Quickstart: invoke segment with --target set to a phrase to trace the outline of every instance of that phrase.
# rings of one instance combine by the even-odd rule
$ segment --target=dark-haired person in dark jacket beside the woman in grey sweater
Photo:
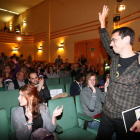
[[[83,89],[85,76],[83,73],[79,73],[75,76],[75,81],[70,86],[70,95],[79,95],[80,91]]]

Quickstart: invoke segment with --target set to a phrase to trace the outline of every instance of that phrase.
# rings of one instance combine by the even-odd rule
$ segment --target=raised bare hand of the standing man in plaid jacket
[[[101,23],[101,28],[105,28],[105,19],[108,15],[108,12],[109,12],[109,8],[106,5],[103,6],[102,13],[99,12],[99,21]]]

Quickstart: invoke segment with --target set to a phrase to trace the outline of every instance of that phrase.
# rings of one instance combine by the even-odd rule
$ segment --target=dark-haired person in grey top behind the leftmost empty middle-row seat
[[[50,65],[50,66],[48,67],[48,72],[46,72],[47,78],[59,78],[59,74],[58,74],[59,70],[60,70],[60,69],[57,70],[57,73],[54,72],[53,66]]]

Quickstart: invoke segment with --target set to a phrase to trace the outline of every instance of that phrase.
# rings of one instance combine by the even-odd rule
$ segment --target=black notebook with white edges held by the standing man
[[[126,133],[130,131],[130,128],[140,118],[140,106],[125,110],[122,112],[123,122]]]

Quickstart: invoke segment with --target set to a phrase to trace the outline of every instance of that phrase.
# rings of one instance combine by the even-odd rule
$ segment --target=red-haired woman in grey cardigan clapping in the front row
[[[47,129],[53,133],[56,129],[56,117],[61,115],[63,106],[53,111],[52,118],[48,107],[43,104],[37,89],[32,84],[26,84],[19,90],[19,107],[12,116],[13,127],[18,140],[29,140],[32,132],[39,128]],[[57,139],[53,133],[55,140]]]

